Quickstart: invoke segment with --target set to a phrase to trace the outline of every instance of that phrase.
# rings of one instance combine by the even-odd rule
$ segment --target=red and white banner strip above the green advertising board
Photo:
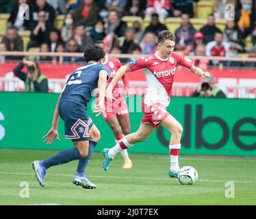
[[[24,83],[12,73],[18,63],[0,64],[0,91],[23,91]],[[82,64],[40,64],[42,74],[49,79],[49,92],[61,92],[68,76]],[[25,68],[24,68],[25,70]],[[216,83],[229,98],[256,99],[256,74],[253,69],[208,69],[216,77]],[[131,92],[145,92],[146,77],[143,70],[127,73]],[[172,96],[190,96],[199,86],[198,77],[184,68],[175,71]],[[120,86],[122,86],[120,81]]]

